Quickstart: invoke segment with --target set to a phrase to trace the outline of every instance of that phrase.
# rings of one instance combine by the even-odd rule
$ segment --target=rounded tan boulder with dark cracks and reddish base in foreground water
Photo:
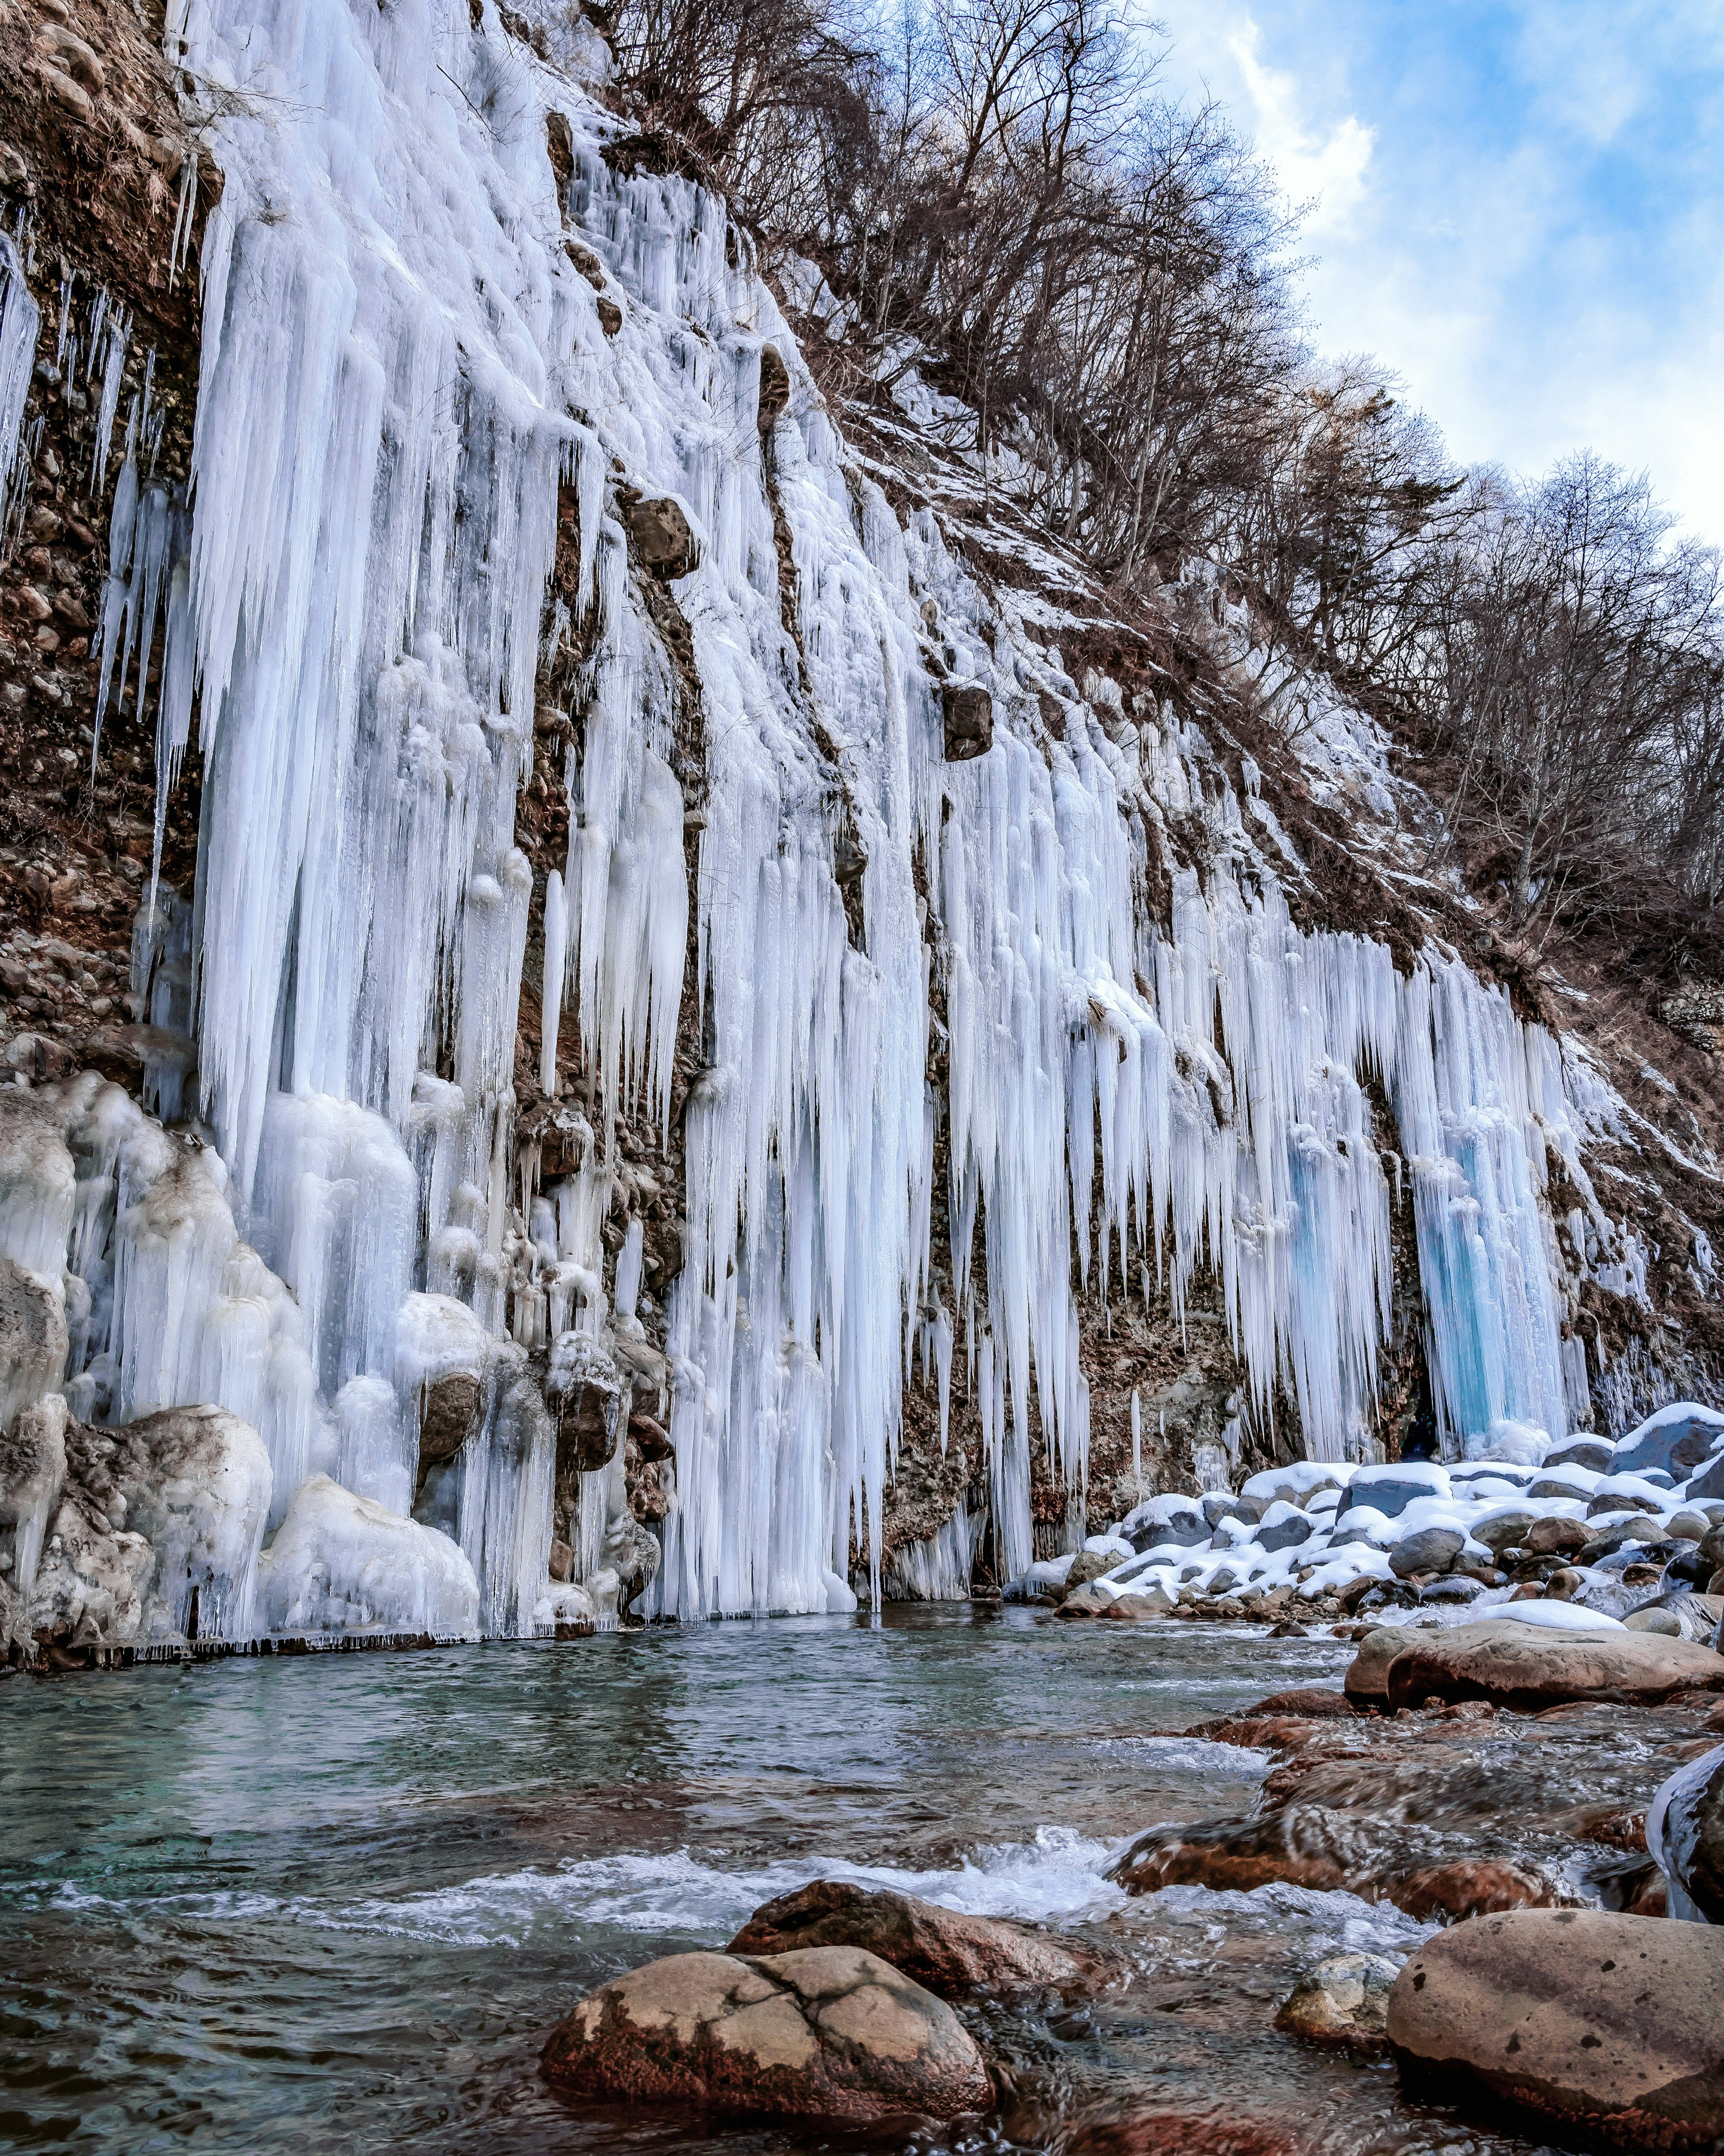
[[[631,1968],[556,2024],[541,2072],[612,2102],[843,2124],[950,2119],[991,2100],[953,2009],[862,1947],[672,1953]]]

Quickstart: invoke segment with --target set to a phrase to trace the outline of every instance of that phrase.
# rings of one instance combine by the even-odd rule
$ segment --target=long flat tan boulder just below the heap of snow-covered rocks
[[[1565,1699],[1657,1705],[1677,1692],[1724,1692],[1724,1658],[1711,1649],[1621,1626],[1560,1630],[1573,1615],[1567,1608],[1554,1611],[1554,1626],[1487,1617],[1446,1632],[1403,1632],[1399,1651],[1375,1647],[1381,1634],[1371,1634],[1347,1671],[1347,1697],[1368,1697],[1364,1686],[1381,1664],[1390,1708],[1420,1705],[1431,1697],[1489,1699],[1500,1708],[1537,1714]],[[1366,1660],[1366,1649],[1371,1660],[1355,1686],[1353,1671]]]

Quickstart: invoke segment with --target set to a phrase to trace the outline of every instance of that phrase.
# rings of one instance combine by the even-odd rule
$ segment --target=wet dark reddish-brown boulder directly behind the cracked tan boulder
[[[763,1902],[724,1951],[797,1953],[804,1947],[864,1947],[942,1999],[1073,1984],[1084,1975],[1075,1955],[1024,1925],[840,1880],[815,1880]]]

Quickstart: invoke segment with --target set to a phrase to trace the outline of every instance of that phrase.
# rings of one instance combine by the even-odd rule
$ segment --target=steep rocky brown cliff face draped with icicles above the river
[[[15,17],[15,1636],[183,1623],[58,1561],[155,1410],[267,1453],[244,1636],[957,1593],[1715,1391],[1681,1087],[1200,569],[1118,619],[961,407],[828,403],[590,30]]]

